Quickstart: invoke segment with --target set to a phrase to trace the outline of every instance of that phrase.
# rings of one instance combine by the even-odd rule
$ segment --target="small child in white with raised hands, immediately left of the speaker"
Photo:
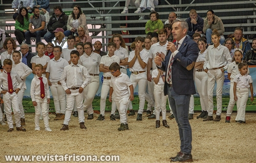
[[[166,121],[166,99],[164,96],[164,78],[165,73],[160,69],[152,71],[152,78],[154,79],[154,97],[155,97],[155,110],[156,110],[156,128],[160,127],[160,112],[162,111],[163,126],[169,128]]]

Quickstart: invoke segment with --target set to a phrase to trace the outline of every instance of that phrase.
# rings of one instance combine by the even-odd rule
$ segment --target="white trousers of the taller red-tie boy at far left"
[[[16,127],[20,127],[21,125],[20,125],[20,111],[18,108],[18,95],[15,92],[13,92],[12,94],[7,92],[6,94],[3,94],[3,100],[5,105],[6,119],[7,119],[9,128],[13,128],[12,110],[15,117]]]

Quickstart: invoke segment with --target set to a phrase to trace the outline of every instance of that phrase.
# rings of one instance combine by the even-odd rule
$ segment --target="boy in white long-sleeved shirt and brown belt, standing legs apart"
[[[87,129],[84,126],[83,113],[83,89],[90,84],[91,77],[85,67],[78,64],[79,52],[73,50],[70,52],[71,64],[64,67],[60,77],[60,83],[67,93],[67,107],[63,127],[60,130],[69,129],[71,113],[76,104],[78,120],[81,129]]]

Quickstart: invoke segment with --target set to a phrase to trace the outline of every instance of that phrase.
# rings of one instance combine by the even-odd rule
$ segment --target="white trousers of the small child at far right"
[[[246,102],[248,100],[248,94],[249,94],[249,89],[241,89],[237,88],[237,109],[238,109],[238,114],[236,117],[236,121],[245,121],[245,108],[246,108]]]

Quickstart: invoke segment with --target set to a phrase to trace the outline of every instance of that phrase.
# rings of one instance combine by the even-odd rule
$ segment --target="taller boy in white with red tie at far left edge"
[[[23,86],[23,80],[20,79],[15,71],[12,71],[12,61],[10,59],[4,60],[4,71],[0,74],[0,92],[3,94],[5,103],[5,111],[7,123],[9,125],[8,132],[13,131],[12,109],[15,116],[16,130],[26,131],[20,125],[20,112],[18,107],[18,91]]]

